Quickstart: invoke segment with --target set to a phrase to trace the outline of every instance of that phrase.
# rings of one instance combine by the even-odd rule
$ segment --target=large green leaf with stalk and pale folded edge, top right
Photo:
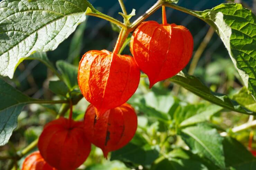
[[[238,73],[256,98],[256,17],[239,3],[220,4],[211,10],[192,11],[167,4],[198,17],[212,26],[225,44]]]

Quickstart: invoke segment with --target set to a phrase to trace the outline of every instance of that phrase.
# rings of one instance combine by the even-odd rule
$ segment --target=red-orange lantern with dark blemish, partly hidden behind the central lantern
[[[124,147],[134,137],[136,129],[137,115],[127,103],[106,111],[98,119],[92,105],[85,112],[85,133],[95,146],[102,149],[106,158],[109,152]]]

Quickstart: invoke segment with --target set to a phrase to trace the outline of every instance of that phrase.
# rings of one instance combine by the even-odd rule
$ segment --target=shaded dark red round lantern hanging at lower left
[[[45,161],[58,170],[75,170],[89,156],[83,122],[59,118],[49,122],[39,137],[38,149]]]

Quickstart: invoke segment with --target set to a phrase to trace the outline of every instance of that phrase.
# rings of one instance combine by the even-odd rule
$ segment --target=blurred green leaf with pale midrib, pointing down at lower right
[[[181,137],[194,154],[208,158],[221,169],[225,169],[223,138],[216,129],[206,124],[182,129]]]

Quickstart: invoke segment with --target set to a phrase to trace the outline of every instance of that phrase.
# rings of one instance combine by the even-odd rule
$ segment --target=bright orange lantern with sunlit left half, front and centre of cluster
[[[79,64],[78,84],[97,116],[124,104],[139,85],[140,70],[131,56],[92,50]]]

